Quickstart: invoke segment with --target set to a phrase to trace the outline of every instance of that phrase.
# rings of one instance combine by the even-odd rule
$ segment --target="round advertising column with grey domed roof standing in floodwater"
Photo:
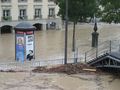
[[[15,26],[15,60],[24,62],[35,59],[35,27],[21,22]]]

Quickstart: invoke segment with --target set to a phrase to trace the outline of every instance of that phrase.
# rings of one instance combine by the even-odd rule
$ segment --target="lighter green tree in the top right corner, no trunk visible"
[[[102,12],[102,21],[108,23],[120,22],[120,0],[99,0]]]

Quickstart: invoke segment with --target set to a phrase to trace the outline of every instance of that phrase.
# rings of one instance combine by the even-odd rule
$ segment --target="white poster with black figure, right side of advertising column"
[[[31,61],[34,58],[34,35],[26,35],[26,59]]]

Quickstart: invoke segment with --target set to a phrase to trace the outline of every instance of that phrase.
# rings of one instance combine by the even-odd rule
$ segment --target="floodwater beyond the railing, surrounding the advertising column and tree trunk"
[[[91,33],[93,24],[76,25],[76,47],[79,53],[91,49]],[[72,25],[68,28],[68,57],[72,55]],[[63,30],[35,31],[35,60],[64,58],[64,28]],[[98,24],[99,43],[115,40],[120,37],[119,24]],[[15,60],[15,35],[0,35],[0,62]]]

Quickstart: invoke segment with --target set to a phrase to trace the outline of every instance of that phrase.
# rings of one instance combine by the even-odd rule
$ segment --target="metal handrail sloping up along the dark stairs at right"
[[[93,48],[87,52],[85,52],[85,62],[89,62],[101,55],[106,53],[116,52],[120,50],[120,40],[110,40],[105,41],[100,44],[96,48]]]

